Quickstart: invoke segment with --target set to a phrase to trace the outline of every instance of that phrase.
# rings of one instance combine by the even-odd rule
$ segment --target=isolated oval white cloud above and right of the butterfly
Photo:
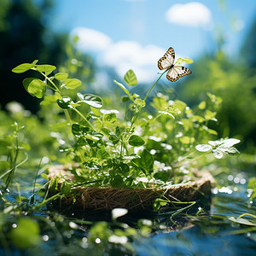
[[[206,5],[198,2],[177,3],[166,11],[166,20],[183,26],[212,28],[212,13]]]

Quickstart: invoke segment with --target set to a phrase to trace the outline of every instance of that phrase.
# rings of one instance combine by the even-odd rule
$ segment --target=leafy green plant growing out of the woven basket
[[[56,67],[37,63],[21,64],[12,71],[34,70],[42,75],[43,79],[25,79],[23,85],[32,96],[44,97],[44,105],[56,102],[64,111],[67,122],[61,123],[61,127],[69,128],[67,133],[72,132],[73,141],[67,139],[66,144],[61,145],[61,151],[66,152],[71,161],[79,163],[73,173],[81,183],[125,188],[182,182],[187,173],[184,168],[199,157],[195,151],[196,143],[217,135],[207,127],[209,120],[216,121],[216,112],[207,108],[207,102],[201,102],[192,110],[184,102],[173,102],[168,96],[158,94],[146,104],[150,91],[172,67],[160,74],[144,98],[114,80],[125,92],[122,102],[131,116],[122,119],[124,110],[103,108],[100,96],[81,93],[73,99],[66,96],[69,90],[78,88],[81,81],[69,79],[67,73],[51,75]],[[132,70],[125,73],[124,80],[128,86],[137,85]],[[47,88],[53,94],[45,96]],[[209,106],[218,104],[214,96],[208,96]],[[232,153],[238,151],[234,149]],[[185,179],[191,178],[191,172],[189,174],[190,177]]]

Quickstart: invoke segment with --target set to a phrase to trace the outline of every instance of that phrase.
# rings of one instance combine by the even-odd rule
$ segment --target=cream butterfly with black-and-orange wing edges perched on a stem
[[[177,79],[192,73],[188,67],[174,66],[174,60],[175,52],[174,49],[170,47],[166,51],[166,54],[158,61],[158,67],[160,70],[168,69],[168,72],[166,74],[166,78],[168,80],[175,82],[177,81]]]

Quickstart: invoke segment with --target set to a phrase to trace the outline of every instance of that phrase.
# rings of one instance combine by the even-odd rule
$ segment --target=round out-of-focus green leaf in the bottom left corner
[[[41,241],[39,225],[32,218],[20,218],[17,227],[9,232],[9,237],[20,249],[34,247]]]

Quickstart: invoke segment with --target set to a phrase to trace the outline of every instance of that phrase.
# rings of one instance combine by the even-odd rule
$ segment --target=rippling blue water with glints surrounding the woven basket
[[[239,173],[238,173],[239,174]],[[236,174],[234,177],[224,177],[228,183],[223,187],[212,189],[212,204],[203,216],[192,218],[183,230],[154,230],[149,236],[140,233],[130,239],[128,247],[91,240],[89,226],[86,221],[78,222],[77,218],[65,217],[58,212],[51,212],[45,207],[35,212],[35,218],[40,224],[42,242],[36,247],[21,252],[11,247],[12,255],[255,255],[256,229],[252,226],[232,222],[230,217],[239,217],[243,213],[256,213],[255,204],[247,196],[247,174]],[[238,182],[237,175],[240,177]],[[21,181],[22,180],[22,181]],[[43,181],[41,181],[43,182]],[[39,180],[40,183],[40,180]],[[21,196],[29,198],[32,195],[31,181],[20,179]],[[10,193],[9,201],[15,201],[18,194]],[[40,201],[37,196],[36,201]],[[49,215],[49,218],[45,218]],[[171,216],[171,215],[170,215]],[[164,214],[162,225],[170,225],[170,216]],[[154,216],[155,218],[155,216]],[[128,219],[129,221],[129,216]],[[15,222],[15,217],[11,220]],[[136,224],[133,218],[130,223]],[[129,224],[130,224],[129,223]],[[75,225],[77,224],[77,226]],[[114,230],[116,227],[111,226]],[[253,227],[255,228],[255,227]],[[0,254],[3,254],[3,248]],[[4,255],[4,254],[3,254]]]

